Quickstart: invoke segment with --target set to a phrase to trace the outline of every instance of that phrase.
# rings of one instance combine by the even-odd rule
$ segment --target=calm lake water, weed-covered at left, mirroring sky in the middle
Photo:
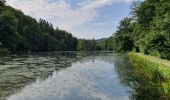
[[[109,52],[52,52],[0,58],[0,99],[130,100],[130,65]]]

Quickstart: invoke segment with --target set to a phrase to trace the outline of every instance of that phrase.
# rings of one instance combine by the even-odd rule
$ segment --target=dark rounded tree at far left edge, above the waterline
[[[0,41],[5,48],[12,51],[16,50],[20,40],[17,24],[18,20],[11,12],[4,11],[0,14]]]

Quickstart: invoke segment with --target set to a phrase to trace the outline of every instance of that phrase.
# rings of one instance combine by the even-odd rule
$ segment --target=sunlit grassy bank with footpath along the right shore
[[[134,89],[136,93],[147,93],[146,100],[152,100],[153,96],[157,100],[169,100],[170,61],[132,52],[128,53],[128,58],[133,65],[131,74],[138,84]]]

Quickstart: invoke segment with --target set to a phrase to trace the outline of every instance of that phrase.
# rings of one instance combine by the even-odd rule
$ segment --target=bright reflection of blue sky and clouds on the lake
[[[37,80],[8,100],[128,100],[128,89],[120,84],[114,64],[86,59]]]

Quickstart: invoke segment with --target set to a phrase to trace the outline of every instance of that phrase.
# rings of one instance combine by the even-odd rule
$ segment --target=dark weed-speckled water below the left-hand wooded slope
[[[81,57],[75,52],[10,55],[0,58],[0,100],[18,92],[36,79],[45,79],[54,70],[71,66]]]

